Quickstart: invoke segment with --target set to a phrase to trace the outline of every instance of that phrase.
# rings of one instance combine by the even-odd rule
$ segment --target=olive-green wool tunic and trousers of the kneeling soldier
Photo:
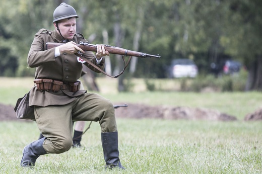
[[[76,34],[73,40],[87,42],[82,34]],[[53,79],[67,84],[75,82],[81,77],[82,66],[88,66],[95,72],[95,68],[79,61],[75,54],[61,54],[55,57],[55,48],[46,50],[47,42],[62,42],[62,37],[54,31],[41,29],[34,37],[28,54],[28,65],[35,67],[36,79]],[[93,52],[85,51],[88,58],[98,67],[104,67],[104,59],[97,64]],[[37,126],[46,139],[43,148],[47,153],[62,153],[73,145],[73,121],[96,121],[101,126],[101,132],[116,132],[116,121],[113,104],[97,95],[85,90],[76,93],[60,89],[57,92],[40,91],[37,86],[30,90],[29,106],[34,106]]]

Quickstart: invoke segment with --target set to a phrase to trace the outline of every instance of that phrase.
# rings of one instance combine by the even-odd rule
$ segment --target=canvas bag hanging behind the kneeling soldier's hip
[[[29,107],[29,93],[17,100],[14,110],[17,118],[35,121],[34,107]]]

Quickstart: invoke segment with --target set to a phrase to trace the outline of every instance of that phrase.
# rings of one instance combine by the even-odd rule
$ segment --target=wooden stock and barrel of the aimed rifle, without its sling
[[[60,46],[64,43],[52,43],[48,42],[46,43],[46,49],[54,48],[57,46]],[[87,42],[81,42],[80,44],[77,44],[79,48],[81,48],[84,51],[93,51],[96,52],[97,46],[93,44],[89,44]],[[137,51],[132,51],[132,50],[127,50],[124,48],[119,48],[111,45],[104,45],[105,50],[107,50],[110,54],[119,54],[119,55],[125,55],[125,56],[134,56],[134,57],[156,57],[160,58],[161,56],[159,55],[151,55],[151,54],[146,54],[142,52],[137,52]]]

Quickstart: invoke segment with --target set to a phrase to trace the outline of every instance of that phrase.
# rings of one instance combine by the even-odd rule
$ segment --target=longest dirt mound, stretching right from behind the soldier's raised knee
[[[233,121],[236,117],[219,111],[204,108],[166,107],[128,104],[128,107],[115,110],[116,116],[121,118],[160,118],[160,119],[186,119],[186,120],[219,120]]]

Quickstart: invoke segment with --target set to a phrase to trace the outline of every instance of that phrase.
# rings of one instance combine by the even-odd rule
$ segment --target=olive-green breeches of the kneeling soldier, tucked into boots
[[[37,126],[44,137],[47,153],[62,153],[72,145],[73,121],[99,122],[101,132],[116,132],[113,104],[97,95],[84,94],[67,105],[35,106]]]

